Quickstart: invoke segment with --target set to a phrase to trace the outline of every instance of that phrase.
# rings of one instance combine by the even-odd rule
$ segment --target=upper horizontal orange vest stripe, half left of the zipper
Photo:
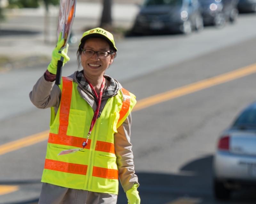
[[[56,135],[53,133],[49,134],[49,143],[53,144],[62,144],[67,146],[74,146],[74,147],[82,147],[84,142],[84,138],[82,137],[75,137],[75,136],[68,136],[68,135]],[[90,149],[91,140],[88,140],[88,144],[85,149]]]

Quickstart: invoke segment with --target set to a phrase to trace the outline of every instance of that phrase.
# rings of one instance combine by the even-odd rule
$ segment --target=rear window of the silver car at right
[[[235,120],[233,126],[256,126],[256,109],[247,109]]]

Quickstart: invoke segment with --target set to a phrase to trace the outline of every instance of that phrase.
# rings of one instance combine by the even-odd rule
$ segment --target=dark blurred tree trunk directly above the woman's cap
[[[102,28],[110,28],[112,26],[112,18],[111,18],[111,6],[112,0],[102,0],[103,10],[100,19],[100,27]]]

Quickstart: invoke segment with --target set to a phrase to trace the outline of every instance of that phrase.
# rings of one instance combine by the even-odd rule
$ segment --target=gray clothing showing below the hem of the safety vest
[[[43,183],[38,204],[116,204],[117,195]]]

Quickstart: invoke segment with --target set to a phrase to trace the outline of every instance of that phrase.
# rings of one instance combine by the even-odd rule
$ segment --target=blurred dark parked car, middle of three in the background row
[[[238,0],[199,0],[204,25],[223,27],[227,21],[234,22],[238,16]]]

